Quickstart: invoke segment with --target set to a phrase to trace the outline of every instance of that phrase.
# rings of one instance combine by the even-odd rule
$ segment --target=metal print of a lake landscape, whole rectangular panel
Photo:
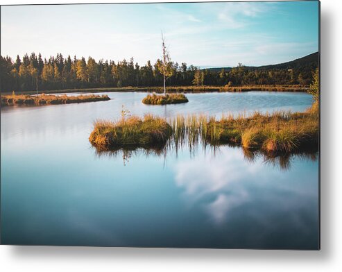
[[[319,5],[1,6],[1,244],[318,250]]]

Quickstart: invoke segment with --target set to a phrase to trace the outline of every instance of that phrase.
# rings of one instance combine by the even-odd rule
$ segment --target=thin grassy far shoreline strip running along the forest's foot
[[[168,93],[200,93],[200,92],[249,92],[249,91],[268,91],[268,92],[307,92],[309,86],[301,85],[241,85],[241,86],[176,86],[167,87]],[[17,92],[18,94],[35,94],[35,90],[28,92]],[[45,94],[64,94],[69,92],[155,92],[162,94],[163,87],[101,87],[65,90],[44,90]],[[3,92],[11,94],[11,92]]]

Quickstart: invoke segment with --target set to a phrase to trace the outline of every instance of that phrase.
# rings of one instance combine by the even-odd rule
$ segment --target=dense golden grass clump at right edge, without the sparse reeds
[[[265,153],[292,153],[318,148],[318,111],[274,112],[212,120],[206,140],[212,144],[237,144]],[[219,133],[218,133],[219,131]]]

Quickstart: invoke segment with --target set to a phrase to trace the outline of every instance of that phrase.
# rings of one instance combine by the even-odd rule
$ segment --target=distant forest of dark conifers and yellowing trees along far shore
[[[31,53],[13,61],[0,56],[0,90],[32,91],[63,90],[92,87],[153,87],[163,85],[163,76],[150,61],[139,66],[129,61],[99,60],[94,58],[64,58],[61,53],[42,59]],[[167,86],[189,85],[309,85],[312,71],[318,67],[318,52],[280,65],[234,68],[198,69],[194,65],[171,62],[172,76]]]

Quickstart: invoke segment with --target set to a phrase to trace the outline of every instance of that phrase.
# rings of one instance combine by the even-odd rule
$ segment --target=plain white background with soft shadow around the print
[[[120,1],[0,0],[1,5],[94,2]],[[1,271],[342,271],[341,3],[321,1],[320,251],[0,246]]]

